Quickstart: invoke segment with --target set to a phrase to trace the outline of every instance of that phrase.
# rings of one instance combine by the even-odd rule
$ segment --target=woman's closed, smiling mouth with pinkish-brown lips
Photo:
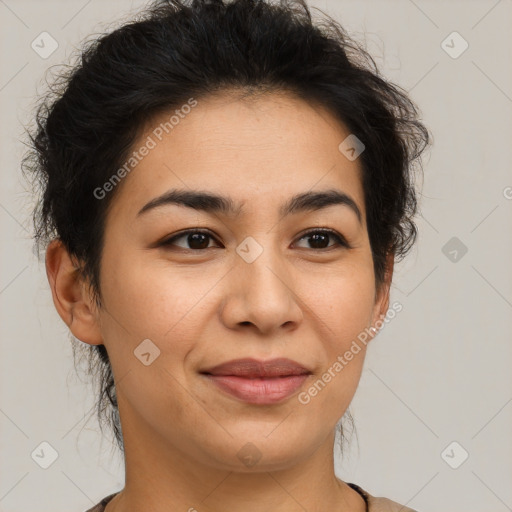
[[[290,398],[312,375],[292,361],[237,359],[200,372],[217,389],[251,404],[275,404]]]

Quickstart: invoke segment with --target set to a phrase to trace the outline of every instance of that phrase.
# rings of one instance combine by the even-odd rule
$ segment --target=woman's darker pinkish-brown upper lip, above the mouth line
[[[209,375],[233,375],[236,377],[286,377],[289,375],[307,375],[311,371],[301,364],[287,358],[259,361],[257,359],[233,359],[200,373]]]

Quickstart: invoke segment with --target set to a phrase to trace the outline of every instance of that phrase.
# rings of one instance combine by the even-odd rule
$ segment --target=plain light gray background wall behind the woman
[[[32,253],[19,162],[45,70],[142,5],[0,0],[2,512],[83,511],[124,483]],[[512,510],[512,0],[310,5],[366,42],[434,134],[419,241],[395,269],[391,301],[403,311],[370,347],[351,405],[358,437],[337,474],[420,512]],[[43,31],[59,45],[46,59],[31,48]],[[453,31],[469,43],[458,58],[442,46]],[[31,458],[43,441],[58,453],[48,469]]]

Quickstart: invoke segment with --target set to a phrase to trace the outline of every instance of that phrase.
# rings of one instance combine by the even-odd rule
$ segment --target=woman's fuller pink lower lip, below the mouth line
[[[206,375],[216,386],[251,404],[275,404],[292,396],[309,375],[254,378],[233,375]]]

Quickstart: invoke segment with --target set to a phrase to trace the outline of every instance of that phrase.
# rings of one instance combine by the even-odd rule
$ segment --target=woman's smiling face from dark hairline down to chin
[[[175,112],[158,116],[134,144],[140,161],[106,221],[104,308],[94,315],[125,444],[221,469],[284,468],[333,435],[364,344],[344,356],[388,306],[374,285],[359,159],[340,151],[349,132],[326,110],[291,96],[224,94],[184,112],[168,133],[161,123]],[[141,212],[173,190],[232,208],[161,202]],[[351,198],[361,219],[346,201],[311,199],[328,191]],[[309,374],[262,385],[203,373],[246,358],[287,358]]]

